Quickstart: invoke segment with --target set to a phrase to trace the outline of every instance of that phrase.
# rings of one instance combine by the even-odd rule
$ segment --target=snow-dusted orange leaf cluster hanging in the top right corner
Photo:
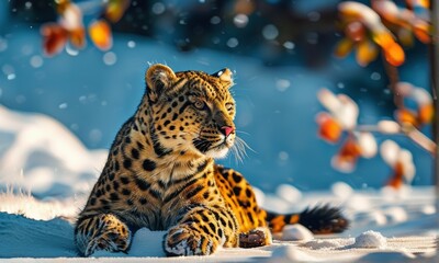
[[[428,8],[428,0],[406,0],[405,8],[391,0],[372,0],[371,7],[354,1],[341,2],[338,10],[345,38],[338,43],[336,56],[345,57],[356,49],[357,62],[365,67],[381,52],[390,65],[403,65],[402,45],[412,46],[414,36],[424,44],[431,42]]]

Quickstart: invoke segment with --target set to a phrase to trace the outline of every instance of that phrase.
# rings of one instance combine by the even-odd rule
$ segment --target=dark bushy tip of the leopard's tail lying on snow
[[[299,222],[313,233],[338,233],[349,228],[341,209],[329,205],[306,208],[300,214]]]

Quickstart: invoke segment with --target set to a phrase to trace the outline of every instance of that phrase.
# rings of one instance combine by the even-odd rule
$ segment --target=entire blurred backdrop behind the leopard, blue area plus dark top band
[[[344,173],[331,165],[341,142],[328,144],[318,136],[316,115],[325,108],[317,92],[323,88],[349,95],[358,104],[362,125],[393,119],[396,110],[380,55],[368,66],[360,66],[354,54],[345,58],[334,55],[345,37],[340,2],[128,1],[123,16],[111,24],[111,48],[101,50],[88,39],[82,49],[67,44],[59,54],[47,56],[42,25],[58,20],[57,4],[1,1],[0,105],[8,111],[45,114],[89,150],[109,149],[139,103],[148,64],[167,64],[175,71],[215,72],[228,67],[235,72],[238,135],[251,150],[241,162],[229,156],[221,163],[240,171],[267,192],[281,184],[301,191],[326,190],[339,181],[353,188],[379,188],[394,173],[380,155],[360,158],[352,172]],[[85,24],[101,15],[102,1],[75,3],[83,12]],[[397,68],[399,80],[429,90],[428,46],[415,39],[404,50],[405,62]],[[0,124],[8,126],[4,119],[0,116]],[[431,136],[430,125],[420,129]],[[0,133],[2,158],[15,138],[4,129]],[[432,183],[429,152],[403,135],[374,136],[379,144],[393,139],[412,152],[416,167],[413,185]],[[2,163],[0,179],[26,178],[35,168],[8,165]],[[97,164],[93,180],[100,169]],[[54,173],[61,176],[58,170]],[[48,192],[42,188],[40,193]]]

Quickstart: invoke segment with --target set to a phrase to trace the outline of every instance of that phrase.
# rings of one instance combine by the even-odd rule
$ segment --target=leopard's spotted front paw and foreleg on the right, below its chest
[[[164,249],[168,255],[209,255],[218,247],[237,247],[237,228],[228,208],[195,206],[168,230]]]

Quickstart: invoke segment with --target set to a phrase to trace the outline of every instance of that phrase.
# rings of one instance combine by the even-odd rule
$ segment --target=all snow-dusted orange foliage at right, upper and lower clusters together
[[[406,61],[403,46],[412,46],[414,37],[420,43],[431,42],[428,0],[406,0],[406,7],[398,7],[390,0],[372,0],[371,7],[354,1],[338,5],[340,25],[345,37],[337,44],[335,55],[346,57],[356,49],[357,62],[365,67],[380,52],[390,67],[402,66]],[[431,95],[423,88],[408,82],[395,81],[391,91],[395,96],[395,121],[383,119],[378,124],[361,126],[357,124],[358,105],[345,94],[333,94],[323,89],[317,98],[327,112],[317,114],[318,136],[324,140],[341,142],[331,164],[341,172],[352,172],[359,158],[371,158],[378,146],[370,132],[385,135],[405,134],[427,150],[435,152],[436,145],[419,130],[432,122],[434,104]],[[416,136],[415,136],[415,135]],[[427,142],[420,141],[429,140]],[[416,168],[412,153],[402,149],[393,140],[380,146],[380,153],[392,173],[385,185],[399,188],[410,183]]]

